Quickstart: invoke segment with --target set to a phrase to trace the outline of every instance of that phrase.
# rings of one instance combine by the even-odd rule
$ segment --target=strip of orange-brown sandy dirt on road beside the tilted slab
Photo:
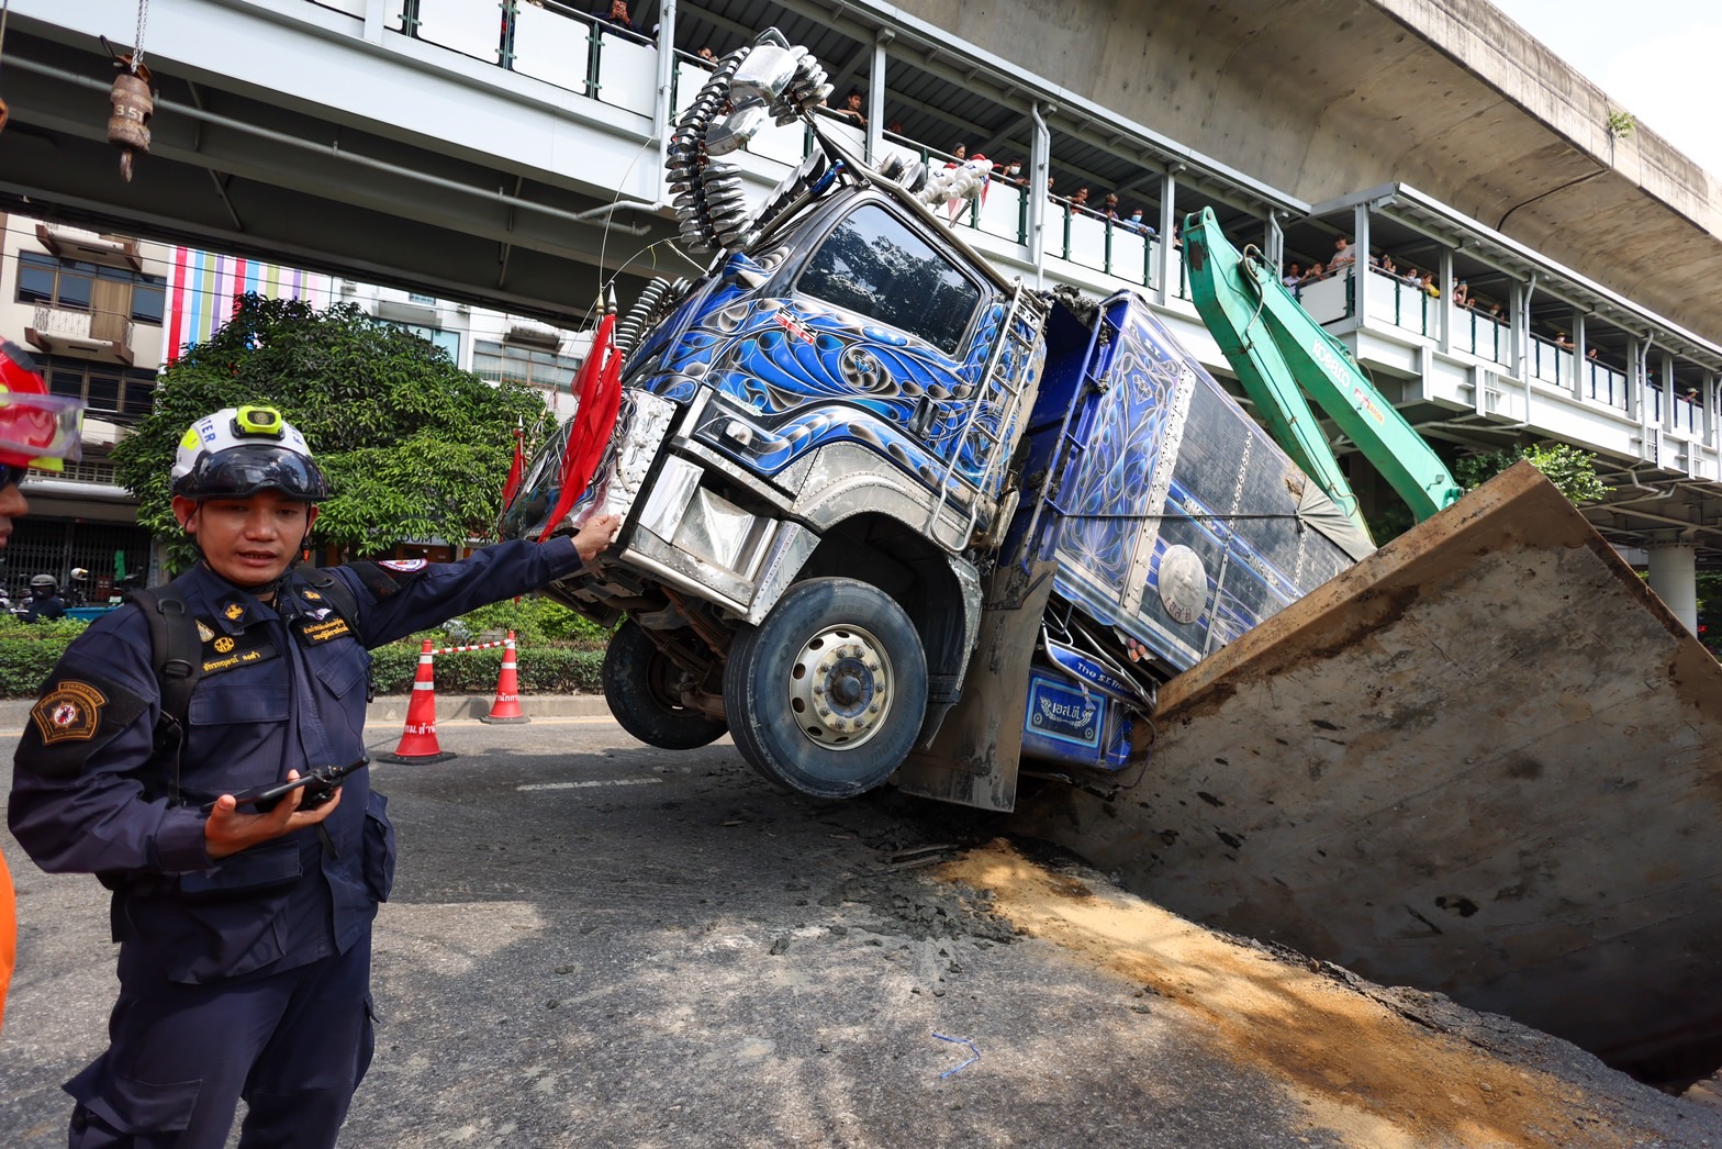
[[[1205,1023],[1226,1058],[1283,1082],[1312,1128],[1348,1144],[1719,1144],[1712,1115],[1567,1042],[1202,929],[1009,842],[971,849],[937,877],[978,891],[988,916],[1019,934],[1116,972],[1121,994]]]

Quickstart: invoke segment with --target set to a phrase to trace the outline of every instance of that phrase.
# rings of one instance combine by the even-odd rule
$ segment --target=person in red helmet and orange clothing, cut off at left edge
[[[48,386],[36,374],[36,360],[0,339],[0,550],[12,537],[12,520],[29,512],[24,493],[17,489],[24,470],[59,470],[64,460],[79,456],[83,408],[83,400],[48,394]],[[0,856],[0,1025],[5,1023],[15,956],[17,897],[12,873]]]

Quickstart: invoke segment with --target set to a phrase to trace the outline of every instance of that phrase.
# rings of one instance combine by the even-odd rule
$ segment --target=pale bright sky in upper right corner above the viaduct
[[[1493,0],[1641,124],[1722,177],[1722,3]]]

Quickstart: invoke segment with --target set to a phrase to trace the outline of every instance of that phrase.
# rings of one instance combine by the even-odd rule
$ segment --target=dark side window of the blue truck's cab
[[[980,303],[971,279],[876,203],[856,208],[832,229],[797,286],[947,355],[963,345]]]

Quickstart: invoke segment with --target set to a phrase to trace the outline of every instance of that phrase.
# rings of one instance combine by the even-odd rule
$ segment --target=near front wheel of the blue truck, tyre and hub
[[[852,798],[889,779],[921,730],[921,636],[871,584],[797,582],[730,646],[723,708],[735,748],[768,780]]]

